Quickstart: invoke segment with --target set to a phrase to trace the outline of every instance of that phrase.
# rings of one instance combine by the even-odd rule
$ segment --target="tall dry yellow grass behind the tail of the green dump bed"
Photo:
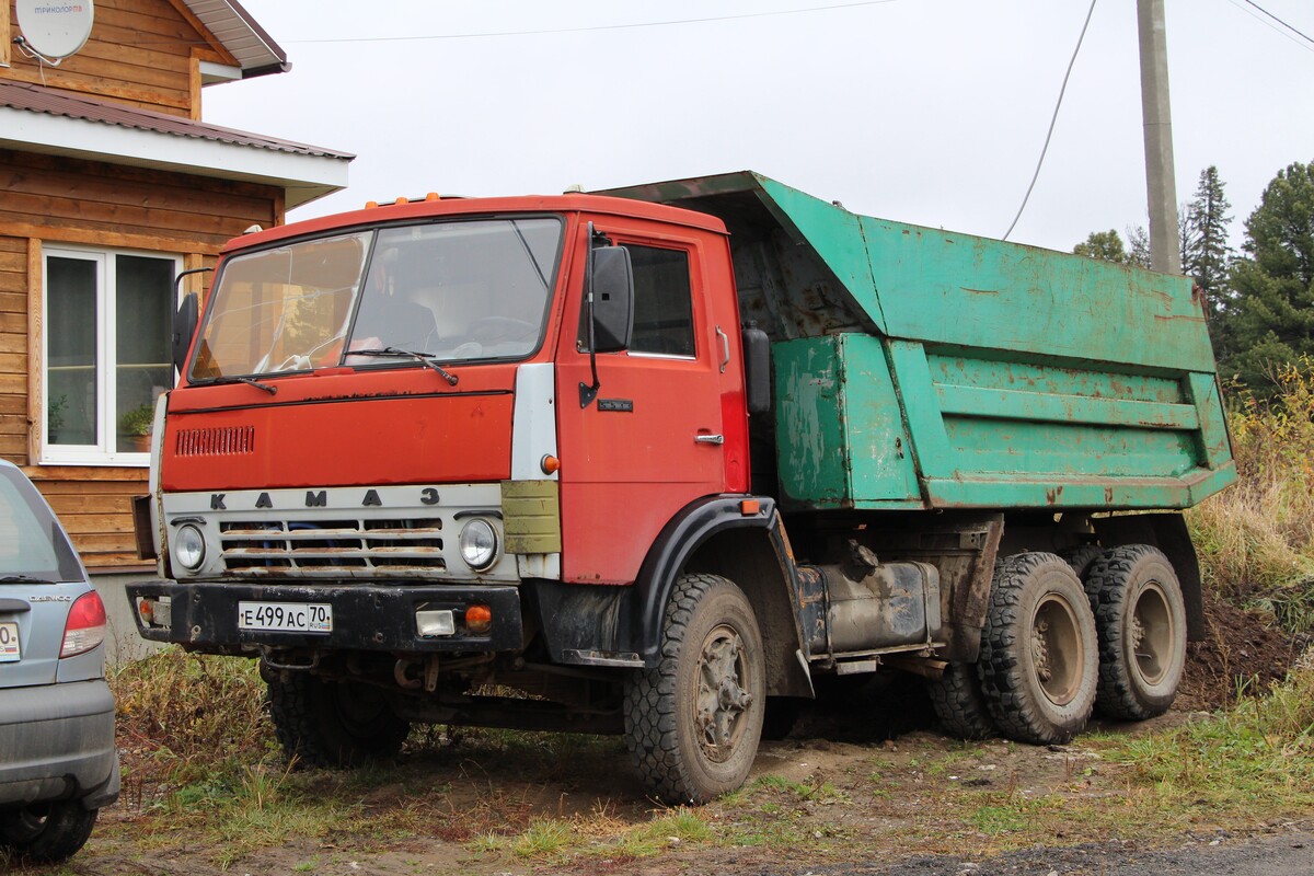
[[[1272,401],[1239,395],[1229,426],[1238,483],[1187,520],[1205,582],[1314,632],[1314,360],[1280,366]]]

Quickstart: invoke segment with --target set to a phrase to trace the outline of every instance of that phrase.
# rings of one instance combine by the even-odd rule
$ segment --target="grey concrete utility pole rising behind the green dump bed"
[[[1150,263],[1155,271],[1181,273],[1163,0],[1137,0],[1137,24],[1141,30],[1141,114],[1146,129]]]

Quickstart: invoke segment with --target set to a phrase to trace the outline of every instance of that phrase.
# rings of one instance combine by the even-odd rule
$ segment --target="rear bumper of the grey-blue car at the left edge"
[[[0,688],[0,806],[118,797],[114,696],[104,679]]]

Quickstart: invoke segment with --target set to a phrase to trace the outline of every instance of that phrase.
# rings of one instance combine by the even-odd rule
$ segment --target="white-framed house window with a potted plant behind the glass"
[[[176,256],[45,248],[42,462],[147,462],[180,271]]]

